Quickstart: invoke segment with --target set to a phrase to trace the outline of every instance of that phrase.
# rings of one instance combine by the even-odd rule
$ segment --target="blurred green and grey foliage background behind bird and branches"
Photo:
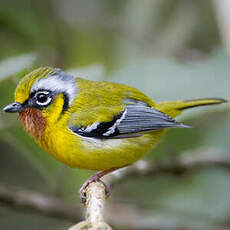
[[[13,101],[25,73],[43,65],[129,84],[156,101],[230,99],[229,15],[228,0],[0,0],[0,106]],[[188,152],[230,157],[229,105],[193,109],[179,120],[195,128],[170,130],[147,159],[173,161]],[[0,185],[80,206],[78,189],[92,172],[45,153],[17,115],[0,113],[0,149]],[[230,171],[212,167],[180,177],[129,178],[115,185],[107,204],[138,210],[143,227],[128,229],[230,229],[229,191]],[[0,202],[0,229],[72,224]]]

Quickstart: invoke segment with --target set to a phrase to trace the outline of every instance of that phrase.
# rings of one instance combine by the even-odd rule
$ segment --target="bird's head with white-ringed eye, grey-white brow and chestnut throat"
[[[60,69],[41,67],[26,75],[17,85],[15,102],[3,111],[19,113],[19,118],[32,136],[40,136],[47,124],[53,124],[76,97],[74,76]]]

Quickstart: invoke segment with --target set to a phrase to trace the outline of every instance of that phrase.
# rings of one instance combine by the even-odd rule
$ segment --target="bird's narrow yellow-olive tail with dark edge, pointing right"
[[[204,105],[216,105],[225,102],[227,102],[227,100],[221,98],[203,98],[185,101],[166,101],[158,103],[156,105],[156,108],[161,112],[166,113],[170,117],[174,118],[181,114],[181,112],[185,109],[190,109],[193,107]]]

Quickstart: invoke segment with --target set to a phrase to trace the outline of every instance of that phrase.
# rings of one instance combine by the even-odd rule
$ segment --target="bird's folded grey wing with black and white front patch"
[[[166,114],[142,102],[126,104],[124,109],[113,115],[109,121],[95,121],[87,126],[75,125],[73,122],[69,125],[75,134],[99,139],[136,137],[144,132],[171,127],[185,128],[188,126],[176,122]]]

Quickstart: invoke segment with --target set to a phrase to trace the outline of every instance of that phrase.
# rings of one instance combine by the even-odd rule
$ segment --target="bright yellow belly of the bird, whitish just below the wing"
[[[70,130],[47,129],[39,144],[57,160],[82,169],[105,170],[131,164],[151,150],[163,134],[153,131],[135,138],[94,139]]]

